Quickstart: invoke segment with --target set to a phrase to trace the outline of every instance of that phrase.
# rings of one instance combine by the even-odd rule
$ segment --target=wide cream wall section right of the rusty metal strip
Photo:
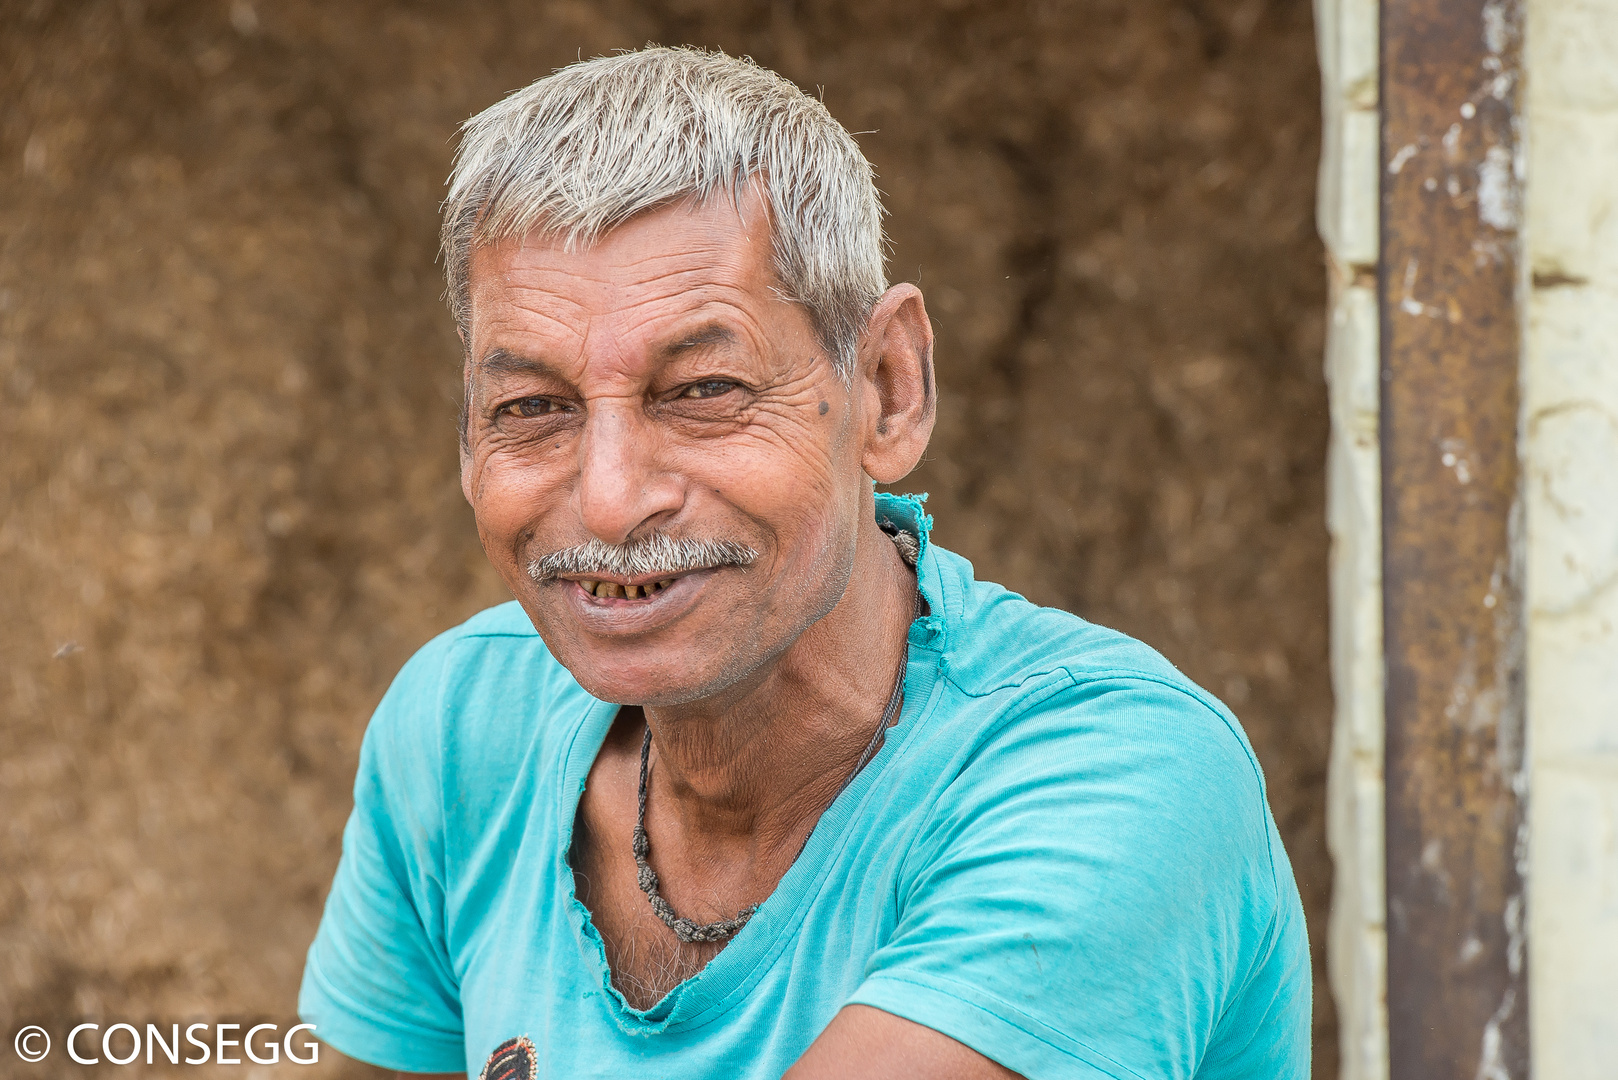
[[[1618,3],[1527,5],[1535,1080],[1618,1062]]]

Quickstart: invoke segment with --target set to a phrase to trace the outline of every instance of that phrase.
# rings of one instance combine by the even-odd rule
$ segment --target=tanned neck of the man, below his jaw
[[[654,801],[683,845],[796,853],[882,722],[914,591],[867,518],[843,599],[781,656],[715,698],[646,709]]]

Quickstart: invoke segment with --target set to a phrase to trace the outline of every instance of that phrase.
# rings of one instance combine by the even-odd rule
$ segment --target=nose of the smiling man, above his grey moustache
[[[660,442],[637,397],[589,402],[576,507],[592,536],[621,544],[641,526],[680,512],[684,486],[659,465]]]

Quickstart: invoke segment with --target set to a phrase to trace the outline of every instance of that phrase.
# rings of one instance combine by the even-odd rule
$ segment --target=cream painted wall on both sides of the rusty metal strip
[[[1345,1080],[1387,1075],[1377,492],[1377,5],[1319,0],[1332,657],[1332,986]],[[1618,1061],[1618,5],[1529,0],[1523,356],[1537,1080]]]

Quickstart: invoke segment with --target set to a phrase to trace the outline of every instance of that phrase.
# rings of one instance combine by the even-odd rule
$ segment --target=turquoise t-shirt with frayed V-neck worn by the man
[[[644,1012],[612,989],[568,848],[616,706],[505,604],[371,722],[304,970],[317,1035],[414,1072],[526,1036],[537,1077],[773,1080],[861,1002],[1029,1080],[1307,1077],[1302,907],[1236,719],[976,581],[917,502],[877,512],[924,541],[901,717],[699,975]]]

